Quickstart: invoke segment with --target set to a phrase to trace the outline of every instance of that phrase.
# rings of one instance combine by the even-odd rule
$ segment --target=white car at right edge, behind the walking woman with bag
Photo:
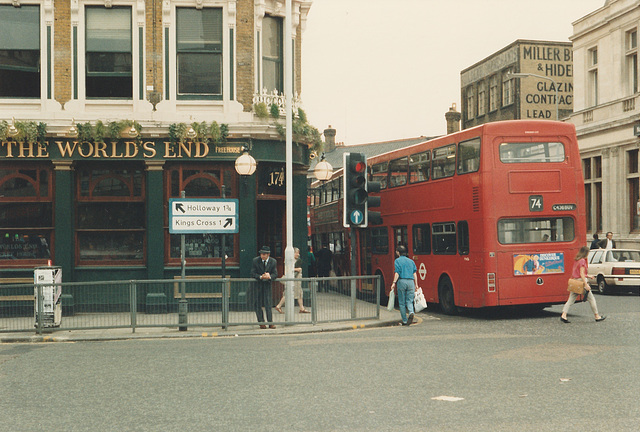
[[[602,294],[640,287],[640,250],[593,249],[589,251],[589,284]]]

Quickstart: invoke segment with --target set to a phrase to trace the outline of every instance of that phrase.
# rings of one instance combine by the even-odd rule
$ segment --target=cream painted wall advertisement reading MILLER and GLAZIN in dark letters
[[[520,72],[537,75],[520,78],[520,118],[556,120],[573,111],[571,46],[523,44]]]

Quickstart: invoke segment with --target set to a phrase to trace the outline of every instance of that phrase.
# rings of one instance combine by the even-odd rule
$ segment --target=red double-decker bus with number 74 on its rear
[[[379,274],[384,303],[395,248],[407,246],[427,301],[545,307],[567,299],[586,241],[575,128],[503,121],[368,159],[382,184],[383,225],[359,235],[360,274]]]

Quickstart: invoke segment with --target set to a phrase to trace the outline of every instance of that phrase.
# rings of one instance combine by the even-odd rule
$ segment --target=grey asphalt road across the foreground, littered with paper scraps
[[[410,327],[0,345],[0,431],[640,431],[640,297]]]

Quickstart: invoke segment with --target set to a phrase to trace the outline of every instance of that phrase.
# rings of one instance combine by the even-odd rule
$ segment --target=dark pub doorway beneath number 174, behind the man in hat
[[[280,200],[258,200],[258,248],[269,246],[271,256],[278,261],[278,277],[284,275],[284,249],[286,247],[285,203],[285,201]]]

